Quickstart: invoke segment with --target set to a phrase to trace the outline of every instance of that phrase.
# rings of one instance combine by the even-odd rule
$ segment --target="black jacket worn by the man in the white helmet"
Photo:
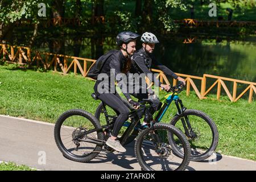
[[[177,79],[177,75],[171,71],[171,69],[167,68],[166,66],[162,65],[158,61],[156,61],[155,57],[150,53],[144,51],[143,48],[139,49],[139,51],[135,52],[134,55],[131,57],[132,67],[130,69],[131,73],[144,73],[146,76],[152,72],[150,71],[151,68],[160,69],[166,75],[171,76]],[[148,77],[152,82],[157,79],[155,76]],[[159,81],[160,86],[162,82]]]

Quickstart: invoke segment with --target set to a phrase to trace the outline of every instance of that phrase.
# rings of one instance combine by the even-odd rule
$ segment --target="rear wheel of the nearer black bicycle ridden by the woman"
[[[104,140],[102,130],[79,137],[85,131],[101,129],[100,122],[90,113],[72,109],[61,114],[55,124],[54,137],[65,158],[76,162],[89,162],[101,151],[102,145],[90,143]]]

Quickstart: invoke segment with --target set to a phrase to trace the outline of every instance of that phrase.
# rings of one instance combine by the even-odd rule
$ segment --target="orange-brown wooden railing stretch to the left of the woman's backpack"
[[[81,75],[86,77],[90,67],[92,67],[93,63],[96,61],[75,56],[31,51],[28,47],[8,46],[6,44],[0,45],[3,61],[18,63],[20,65],[26,64],[28,67],[30,67],[32,63],[35,63],[38,68],[43,67],[47,70],[53,67],[54,71],[60,68],[64,74],[67,74],[73,68],[75,74],[80,71]]]

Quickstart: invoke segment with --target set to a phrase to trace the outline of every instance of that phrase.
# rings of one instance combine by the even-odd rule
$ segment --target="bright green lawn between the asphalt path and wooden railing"
[[[94,101],[94,81],[81,76],[36,72],[16,65],[0,65],[0,114],[54,123],[68,109],[84,109],[94,114],[100,101]],[[160,92],[160,98],[164,96]],[[209,96],[216,97],[216,96]],[[256,160],[256,102],[236,103],[225,96],[221,101],[199,100],[194,92],[180,98],[188,109],[207,113],[218,127],[220,140],[217,152]],[[171,105],[162,121],[170,122],[176,113]]]

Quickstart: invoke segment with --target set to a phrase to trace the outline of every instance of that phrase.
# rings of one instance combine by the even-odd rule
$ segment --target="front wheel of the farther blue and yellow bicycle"
[[[190,126],[188,126],[188,123]],[[183,131],[187,136],[188,142],[191,144],[192,161],[207,159],[216,150],[218,144],[217,126],[203,111],[194,109],[185,110],[182,116],[176,115],[170,124]],[[179,139],[170,134],[170,143],[175,153],[182,157],[183,151],[179,146]]]

